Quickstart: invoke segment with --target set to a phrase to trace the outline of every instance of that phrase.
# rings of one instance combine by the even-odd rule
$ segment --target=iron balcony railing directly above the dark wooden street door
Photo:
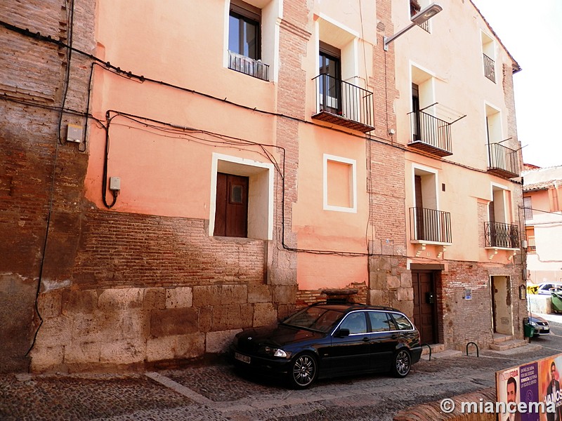
[[[410,234],[415,241],[450,244],[451,214],[434,209],[410,208]]]

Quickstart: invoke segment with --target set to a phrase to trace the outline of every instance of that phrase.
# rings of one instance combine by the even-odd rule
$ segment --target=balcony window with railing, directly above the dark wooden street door
[[[410,238],[417,243],[452,243],[451,215],[438,210],[437,173],[414,168],[414,204],[410,208]]]

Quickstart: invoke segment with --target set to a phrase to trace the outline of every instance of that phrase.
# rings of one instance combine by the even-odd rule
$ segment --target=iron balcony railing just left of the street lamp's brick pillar
[[[319,74],[313,80],[316,83],[316,114],[313,119],[363,133],[374,130],[372,92],[329,74]]]

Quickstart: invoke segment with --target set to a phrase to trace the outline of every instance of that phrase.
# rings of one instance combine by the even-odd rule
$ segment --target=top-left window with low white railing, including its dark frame
[[[230,1],[228,68],[268,80],[268,66],[261,62],[261,9],[240,0]]]

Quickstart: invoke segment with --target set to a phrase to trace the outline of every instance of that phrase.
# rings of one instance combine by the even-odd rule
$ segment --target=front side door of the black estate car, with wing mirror
[[[348,329],[349,335],[338,335],[341,329]],[[347,314],[332,333],[332,345],[325,359],[329,371],[344,374],[370,370],[370,340],[365,312]]]

